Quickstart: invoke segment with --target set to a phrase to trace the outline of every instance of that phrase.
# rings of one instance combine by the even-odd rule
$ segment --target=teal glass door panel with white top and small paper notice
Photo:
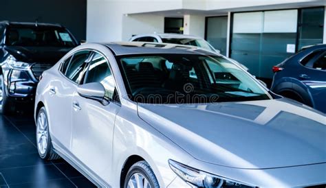
[[[272,78],[272,67],[295,52],[297,16],[297,10],[233,14],[230,57],[258,78]]]

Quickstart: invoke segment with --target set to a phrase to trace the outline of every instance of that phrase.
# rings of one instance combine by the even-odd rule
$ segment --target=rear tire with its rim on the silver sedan
[[[60,156],[54,151],[52,145],[45,107],[42,107],[39,110],[36,119],[36,145],[41,158],[49,161],[60,158]]]

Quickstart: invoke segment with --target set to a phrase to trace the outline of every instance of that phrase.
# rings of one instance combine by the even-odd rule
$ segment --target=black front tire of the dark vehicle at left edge
[[[15,103],[7,96],[5,84],[3,82],[3,75],[1,75],[1,110],[3,115],[12,115],[16,111]]]

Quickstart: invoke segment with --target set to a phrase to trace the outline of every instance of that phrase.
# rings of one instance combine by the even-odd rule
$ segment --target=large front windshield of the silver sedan
[[[117,56],[135,102],[193,104],[272,99],[248,73],[221,56]]]

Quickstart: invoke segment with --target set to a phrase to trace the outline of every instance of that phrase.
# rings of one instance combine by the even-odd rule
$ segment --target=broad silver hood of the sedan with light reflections
[[[265,169],[326,162],[325,114],[292,100],[138,104],[138,114],[207,163]]]

